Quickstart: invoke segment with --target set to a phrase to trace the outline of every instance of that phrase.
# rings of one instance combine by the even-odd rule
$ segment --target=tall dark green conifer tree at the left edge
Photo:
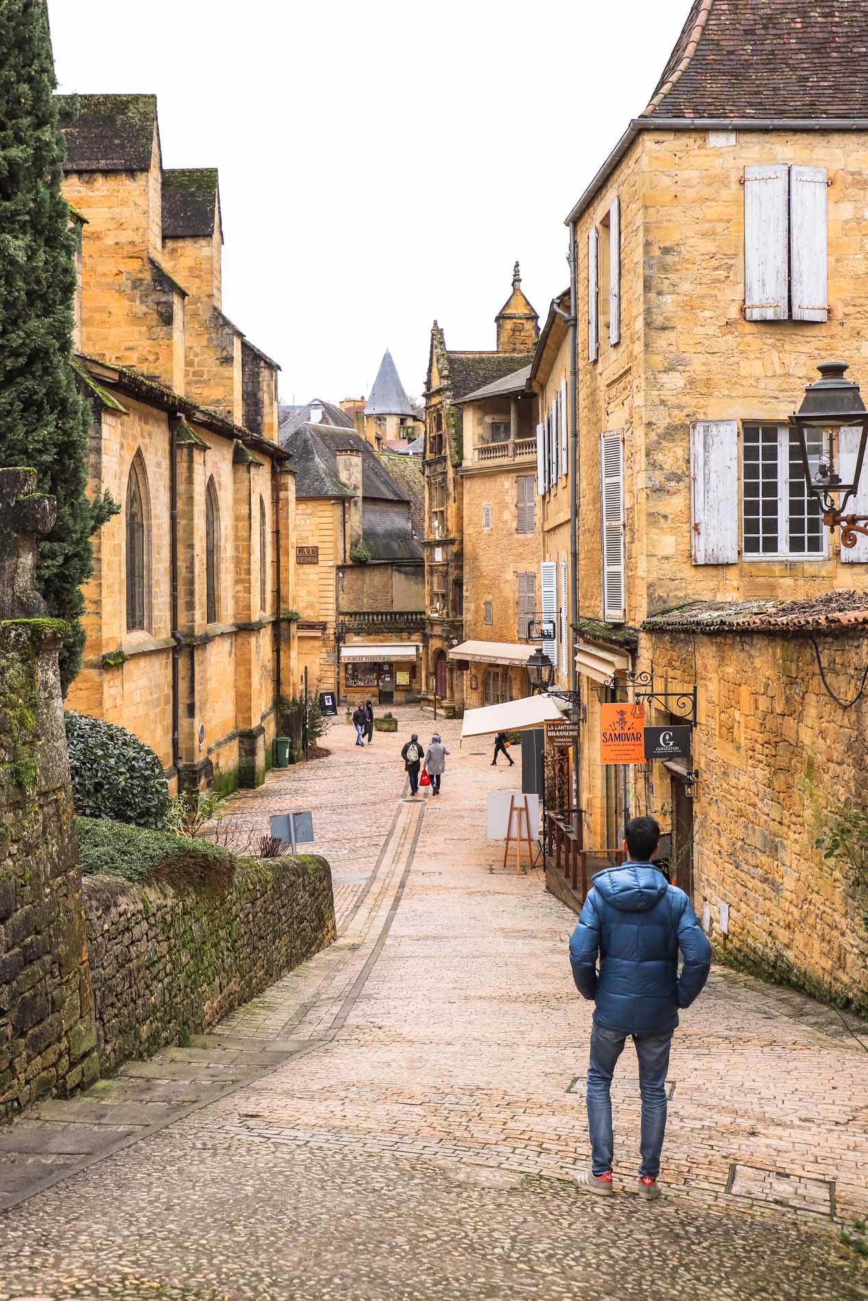
[[[64,691],[81,664],[90,535],[116,509],[88,502],[90,411],[72,369],[77,233],[61,193],[62,137],[46,0],[0,0],[0,466],[33,466],[57,498],[39,545],[48,613],[74,628]]]

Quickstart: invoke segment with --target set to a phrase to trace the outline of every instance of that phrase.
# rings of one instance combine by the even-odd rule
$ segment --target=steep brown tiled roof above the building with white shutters
[[[643,117],[868,118],[865,0],[694,0]]]

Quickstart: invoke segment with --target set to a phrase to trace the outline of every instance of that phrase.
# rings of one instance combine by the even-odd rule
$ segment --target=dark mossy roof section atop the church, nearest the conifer
[[[65,172],[147,172],[156,95],[59,95]]]

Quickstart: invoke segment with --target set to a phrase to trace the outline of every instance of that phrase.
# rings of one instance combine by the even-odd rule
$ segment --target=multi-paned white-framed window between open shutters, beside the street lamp
[[[822,431],[808,433],[819,454]],[[812,440],[816,448],[812,446]],[[786,424],[742,431],[742,554],[746,559],[825,556],[822,509],[808,494],[799,436]]]

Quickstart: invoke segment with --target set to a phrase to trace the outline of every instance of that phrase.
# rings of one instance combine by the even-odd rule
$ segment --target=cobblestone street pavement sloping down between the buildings
[[[0,1301],[868,1297],[837,1240],[868,1215],[864,1028],[714,971],[673,1049],[668,1196],[631,1196],[625,1053],[618,1196],[583,1198],[574,919],[501,869],[485,796],[517,770],[457,723],[442,796],[402,799],[400,747],[432,729],[400,713],[363,752],[337,723],[329,758],[236,804],[251,827],[314,811],[338,941],[191,1049],[13,1127],[70,1163],[5,1213]],[[88,1147],[105,1124],[116,1150]]]

